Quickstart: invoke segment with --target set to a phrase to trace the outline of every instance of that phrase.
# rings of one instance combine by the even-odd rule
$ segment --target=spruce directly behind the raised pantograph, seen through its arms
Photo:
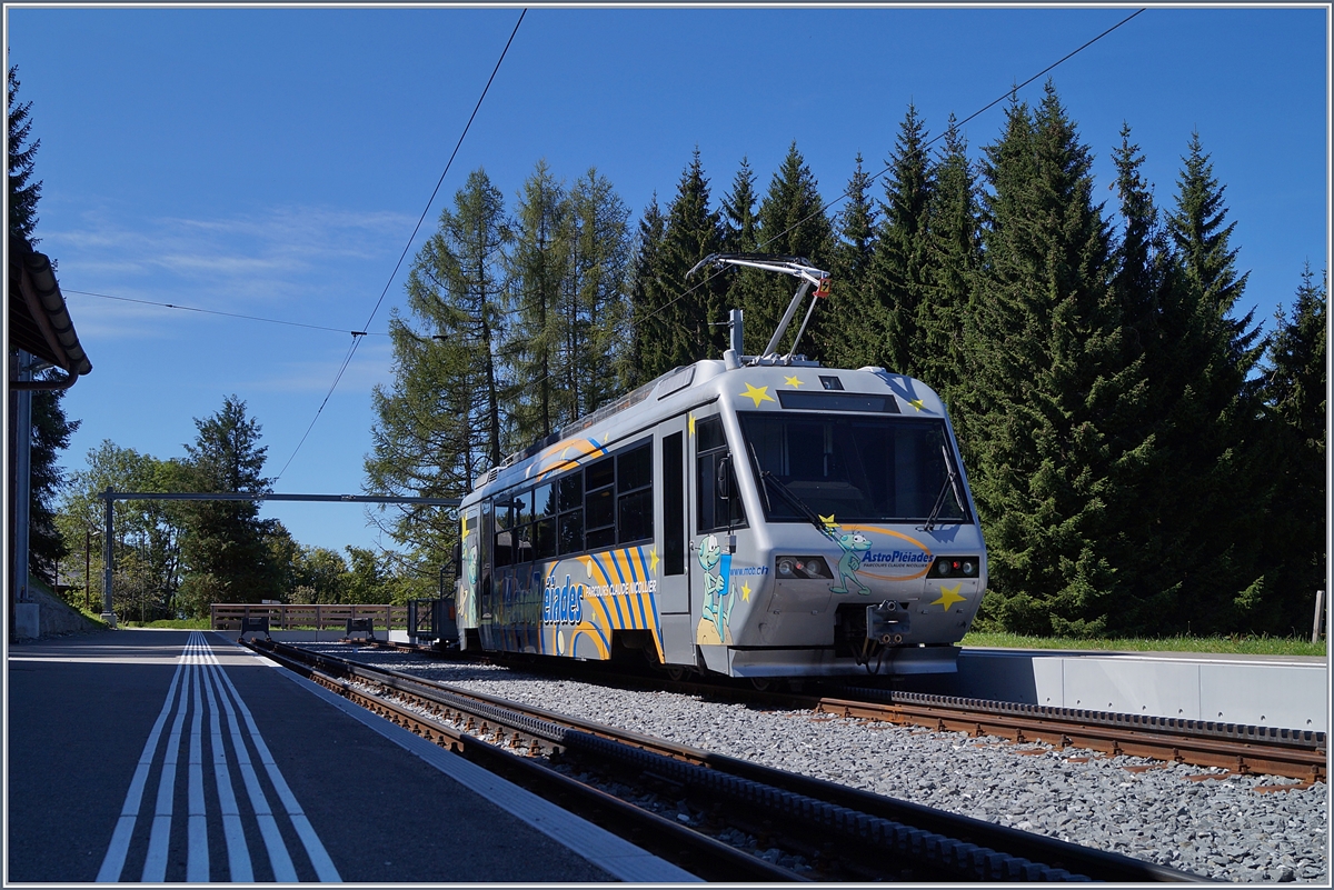
[[[819,184],[806,165],[796,141],[787,149],[782,165],[770,180],[768,192],[759,205],[759,249],[762,253],[806,257],[820,269],[828,269],[834,260],[834,228],[824,216],[824,201],[820,199]],[[796,290],[796,280],[768,274],[754,294],[747,294],[746,309],[746,353],[760,354],[768,344],[778,322],[783,317]],[[787,333],[778,345],[778,352],[786,353],[796,336],[807,306],[802,306]],[[828,320],[827,312],[818,306],[812,318],[812,329],[803,334],[798,349],[819,358],[819,344],[823,338],[820,325]]]

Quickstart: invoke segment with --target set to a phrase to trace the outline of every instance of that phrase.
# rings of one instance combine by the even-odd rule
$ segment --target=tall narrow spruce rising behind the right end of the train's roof
[[[883,318],[876,364],[894,373],[918,376],[935,171],[927,151],[926,124],[911,104],[886,163],[890,173],[884,181],[883,221],[871,261],[871,286]]]

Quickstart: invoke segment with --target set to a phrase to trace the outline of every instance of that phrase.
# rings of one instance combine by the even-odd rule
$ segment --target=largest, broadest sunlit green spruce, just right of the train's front
[[[1091,156],[1047,84],[986,148],[978,308],[966,329],[970,466],[987,534],[988,613],[1011,630],[1097,634],[1119,584],[1103,544],[1118,441],[1137,397],[1109,294]]]

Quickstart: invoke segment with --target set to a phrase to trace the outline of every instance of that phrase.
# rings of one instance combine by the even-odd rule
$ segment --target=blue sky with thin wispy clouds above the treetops
[[[512,201],[539,159],[606,175],[632,220],[666,205],[698,145],[715,204],[743,156],[762,188],[792,140],[827,199],[858,152],[876,172],[914,103],[931,135],[1133,8],[534,8],[412,252],[468,172]],[[93,373],[64,465],[101,440],[183,454],[193,418],[236,393],[263,425],[267,473],[305,433],[368,330],[519,8],[5,9],[41,140],[39,248]],[[1122,123],[1161,207],[1198,131],[1226,185],[1243,302],[1269,324],[1305,262],[1329,254],[1329,20],[1323,8],[1150,8],[1051,77],[1107,192]],[[1041,97],[1042,81],[1021,99]],[[995,140],[1003,104],[966,127]],[[411,252],[408,261],[411,261]],[[272,325],[84,296],[280,318]],[[387,337],[360,345],[275,490],[362,493]],[[360,506],[265,508],[308,545],[380,538]],[[391,544],[384,538],[383,544]]]

